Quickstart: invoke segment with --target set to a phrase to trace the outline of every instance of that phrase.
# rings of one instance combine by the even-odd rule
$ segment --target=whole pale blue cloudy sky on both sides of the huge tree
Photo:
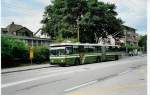
[[[147,32],[147,0],[99,0],[114,3],[118,18],[139,34]],[[12,21],[36,32],[42,24],[44,8],[51,0],[1,0],[1,27]]]

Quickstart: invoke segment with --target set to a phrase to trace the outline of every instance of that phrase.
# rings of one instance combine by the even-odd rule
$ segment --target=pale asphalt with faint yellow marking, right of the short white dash
[[[65,95],[147,95],[146,65],[94,81]]]

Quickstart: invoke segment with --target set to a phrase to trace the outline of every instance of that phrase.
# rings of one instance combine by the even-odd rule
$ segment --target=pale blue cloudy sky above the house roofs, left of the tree
[[[40,22],[43,18],[44,6],[46,6],[46,3],[48,4],[47,1],[48,0],[41,0],[40,3],[45,5],[40,6],[39,9],[34,8],[34,5],[30,6],[22,4],[23,2],[18,2],[17,0],[6,0],[2,2],[5,5],[2,6],[3,12],[1,26],[6,27],[14,21],[16,24],[20,24],[29,28],[31,31],[36,32],[42,26]]]

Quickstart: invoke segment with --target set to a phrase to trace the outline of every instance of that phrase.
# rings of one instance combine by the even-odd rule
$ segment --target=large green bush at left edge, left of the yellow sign
[[[24,41],[2,37],[1,46],[2,68],[20,65],[17,61],[27,58],[28,45]]]

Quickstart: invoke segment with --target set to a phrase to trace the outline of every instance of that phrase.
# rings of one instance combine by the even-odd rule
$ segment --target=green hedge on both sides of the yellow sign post
[[[41,64],[49,60],[49,50],[46,46],[33,47],[33,63]],[[29,46],[19,39],[12,37],[1,38],[2,68],[30,64]]]

